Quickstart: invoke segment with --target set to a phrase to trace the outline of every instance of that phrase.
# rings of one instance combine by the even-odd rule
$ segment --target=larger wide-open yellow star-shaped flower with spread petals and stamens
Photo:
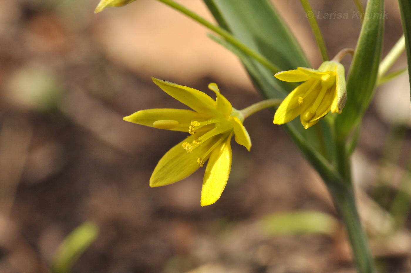
[[[251,148],[251,140],[242,125],[244,117],[219,93],[217,84],[208,88],[215,92],[214,100],[205,93],[168,81],[152,78],[164,92],[189,106],[185,109],[148,109],[138,111],[124,120],[132,123],[188,132],[191,134],[171,148],[158,162],[150,186],[159,187],[177,182],[203,167],[208,160],[201,190],[201,206],[213,204],[221,196],[231,169],[233,134],[237,143]]]

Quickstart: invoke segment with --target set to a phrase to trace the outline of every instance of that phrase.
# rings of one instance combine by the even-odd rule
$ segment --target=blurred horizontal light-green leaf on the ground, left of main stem
[[[321,211],[290,211],[267,215],[260,224],[265,231],[273,235],[332,235],[337,229],[338,220]]]

